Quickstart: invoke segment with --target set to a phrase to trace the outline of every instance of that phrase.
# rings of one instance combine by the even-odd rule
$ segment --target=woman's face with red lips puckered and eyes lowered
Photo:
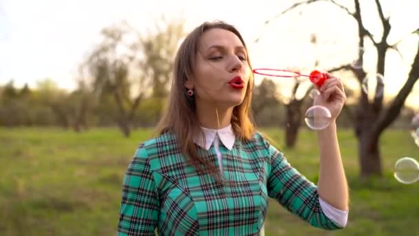
[[[251,73],[243,43],[233,32],[214,28],[204,32],[198,48],[194,78],[185,86],[194,89],[198,103],[240,105]]]

